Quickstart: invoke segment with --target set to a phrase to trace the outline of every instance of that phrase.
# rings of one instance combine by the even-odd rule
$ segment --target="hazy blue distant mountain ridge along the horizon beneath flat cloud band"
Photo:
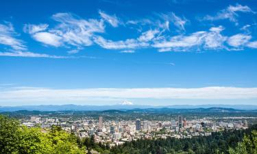
[[[167,105],[167,106],[151,106],[151,105],[23,105],[23,106],[0,106],[0,112],[14,112],[19,110],[27,111],[106,111],[106,110],[147,110],[148,112],[157,110],[257,110],[257,105]]]

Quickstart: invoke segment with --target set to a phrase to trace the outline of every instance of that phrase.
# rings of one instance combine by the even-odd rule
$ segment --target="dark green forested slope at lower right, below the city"
[[[184,139],[136,140],[112,148],[111,153],[131,154],[256,154],[257,125],[247,130],[225,130],[212,136]],[[245,137],[244,137],[245,136]]]

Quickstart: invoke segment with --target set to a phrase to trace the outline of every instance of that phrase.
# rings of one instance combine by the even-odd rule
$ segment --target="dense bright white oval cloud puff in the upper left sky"
[[[49,32],[38,32],[32,36],[38,42],[42,42],[47,45],[54,47],[60,47],[62,45],[62,38],[56,34],[51,34]]]

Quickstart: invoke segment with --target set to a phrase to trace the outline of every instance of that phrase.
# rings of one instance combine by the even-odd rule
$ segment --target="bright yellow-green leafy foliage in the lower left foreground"
[[[76,137],[54,126],[50,131],[38,127],[20,126],[14,119],[0,116],[0,153],[1,154],[82,154],[84,147],[77,146]]]

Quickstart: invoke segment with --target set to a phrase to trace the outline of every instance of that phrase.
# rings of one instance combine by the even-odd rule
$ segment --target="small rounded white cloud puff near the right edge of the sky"
[[[249,42],[251,38],[252,36],[248,36],[245,34],[236,34],[228,38],[228,44],[230,44],[230,46],[232,47],[240,47]]]

